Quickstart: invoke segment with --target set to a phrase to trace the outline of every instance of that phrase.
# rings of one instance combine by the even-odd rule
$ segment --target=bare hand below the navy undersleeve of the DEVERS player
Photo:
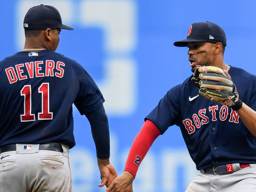
[[[98,158],[98,166],[100,169],[100,178],[101,183],[99,187],[103,187],[106,185],[108,187],[114,178],[117,177],[115,168],[110,164],[109,158],[108,159],[99,159]]]

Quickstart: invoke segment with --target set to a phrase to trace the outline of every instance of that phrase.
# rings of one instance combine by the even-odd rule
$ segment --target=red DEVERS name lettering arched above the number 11
[[[10,84],[17,82],[18,80],[24,80],[35,77],[44,77],[44,76],[56,76],[58,78],[62,78],[64,75],[64,66],[63,62],[55,62],[53,60],[45,61],[45,70],[43,71],[42,65],[43,61],[35,61],[35,62],[25,62],[22,64],[17,64],[14,67],[9,67],[5,69],[8,80]],[[55,72],[54,72],[55,68]],[[24,70],[28,72],[28,75],[24,75]],[[35,72],[35,75],[34,75]]]

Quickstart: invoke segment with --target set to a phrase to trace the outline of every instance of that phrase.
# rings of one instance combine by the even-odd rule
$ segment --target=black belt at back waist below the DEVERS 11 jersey
[[[24,147],[29,147],[30,145],[24,145]],[[57,151],[57,152],[63,152],[63,148],[61,144],[56,143],[45,143],[45,144],[39,144],[39,150],[50,150],[50,151]],[[9,144],[0,147],[0,152],[7,152],[7,151],[16,151],[16,144]]]

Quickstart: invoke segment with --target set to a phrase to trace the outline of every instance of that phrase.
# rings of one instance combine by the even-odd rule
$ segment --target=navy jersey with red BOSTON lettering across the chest
[[[239,98],[256,110],[256,76],[240,68],[228,71]],[[198,170],[230,163],[256,163],[256,138],[236,111],[198,96],[190,78],[171,88],[146,116],[162,132],[180,127],[188,152]]]

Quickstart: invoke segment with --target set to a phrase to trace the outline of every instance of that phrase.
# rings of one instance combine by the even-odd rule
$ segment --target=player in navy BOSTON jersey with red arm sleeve
[[[132,181],[150,146],[174,124],[180,127],[188,152],[200,170],[186,192],[255,192],[256,76],[225,64],[226,35],[212,22],[192,24],[187,38],[174,42],[174,46],[188,47],[188,60],[195,74],[204,68],[223,70],[237,88],[233,85],[234,89],[225,94],[235,97],[222,99],[223,105],[214,102],[216,95],[221,96],[217,91],[214,97],[210,97],[211,91],[205,96],[208,99],[202,97],[201,89],[199,93],[191,82],[194,74],[171,88],[146,116],[123,174],[106,192],[131,192]],[[226,102],[232,104],[226,106]]]

